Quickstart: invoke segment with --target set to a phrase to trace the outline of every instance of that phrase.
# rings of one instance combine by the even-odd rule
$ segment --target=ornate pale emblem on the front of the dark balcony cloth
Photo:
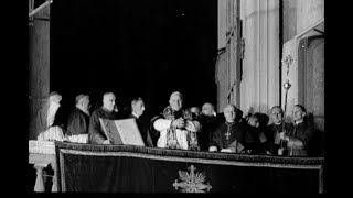
[[[190,169],[190,173],[179,170],[179,178],[181,179],[180,183],[178,183],[178,179],[173,183],[173,186],[178,190],[179,188],[181,193],[206,193],[210,191],[212,186],[210,183],[204,184],[205,182],[205,174],[204,173],[195,173],[195,166],[191,165],[188,167]]]

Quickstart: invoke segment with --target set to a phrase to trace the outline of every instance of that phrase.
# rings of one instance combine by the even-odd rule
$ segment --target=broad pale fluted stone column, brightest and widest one
[[[280,103],[279,1],[242,0],[245,41],[240,109],[268,113]]]

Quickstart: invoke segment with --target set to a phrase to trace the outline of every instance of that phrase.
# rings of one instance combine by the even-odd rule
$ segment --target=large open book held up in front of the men
[[[145,146],[135,119],[108,120],[99,118],[103,131],[111,144],[129,144]]]

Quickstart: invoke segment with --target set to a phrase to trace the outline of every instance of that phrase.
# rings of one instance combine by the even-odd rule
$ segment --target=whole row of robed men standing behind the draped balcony
[[[45,110],[40,111],[42,121],[46,116],[46,124],[41,129],[39,141],[111,144],[99,119],[133,118],[146,146],[290,156],[312,156],[315,150],[312,143],[314,129],[306,120],[306,108],[300,105],[292,110],[292,123],[285,122],[279,106],[272,107],[272,122],[267,124],[264,114],[253,113],[243,118],[243,111],[234,105],[227,105],[223,113],[216,113],[214,106],[206,102],[202,112],[194,112],[199,108],[184,108],[183,96],[179,91],[171,94],[169,106],[152,119],[143,117],[146,107],[142,98],[132,99],[130,113],[122,117],[118,113],[114,92],[104,94],[103,106],[92,113],[89,96],[78,95],[64,129],[54,124],[61,98],[60,94],[52,92]]]

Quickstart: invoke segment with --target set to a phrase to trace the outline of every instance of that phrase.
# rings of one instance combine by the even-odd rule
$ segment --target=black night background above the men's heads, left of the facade
[[[216,0],[60,0],[51,4],[51,91],[66,120],[75,96],[92,110],[106,91],[119,110],[142,97],[149,117],[179,90],[184,106],[216,105]]]

